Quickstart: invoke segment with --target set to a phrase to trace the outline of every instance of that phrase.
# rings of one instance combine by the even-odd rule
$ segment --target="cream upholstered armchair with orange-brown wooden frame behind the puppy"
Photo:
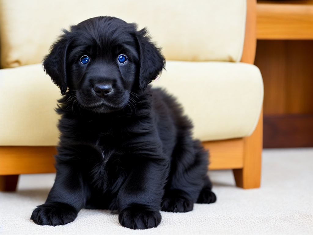
[[[149,29],[163,47],[165,87],[192,118],[210,169],[233,169],[236,184],[260,185],[263,82],[252,65],[256,0],[0,0],[0,189],[18,175],[54,172],[59,89],[41,61],[68,28],[111,15]]]

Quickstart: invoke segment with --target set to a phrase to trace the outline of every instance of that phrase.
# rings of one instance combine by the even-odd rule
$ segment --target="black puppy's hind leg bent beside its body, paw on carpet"
[[[188,212],[193,209],[193,204],[199,201],[199,194],[205,198],[213,197],[207,171],[208,153],[204,151],[200,141],[192,141],[190,136],[181,138],[172,155],[162,211]],[[202,203],[208,203],[206,201],[208,200],[203,200]]]

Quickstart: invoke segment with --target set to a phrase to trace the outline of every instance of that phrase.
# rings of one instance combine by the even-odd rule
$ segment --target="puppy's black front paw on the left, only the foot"
[[[30,219],[39,225],[57,226],[73,222],[76,217],[77,212],[74,207],[54,202],[37,206]]]

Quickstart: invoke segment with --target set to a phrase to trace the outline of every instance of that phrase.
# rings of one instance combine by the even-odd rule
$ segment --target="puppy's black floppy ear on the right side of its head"
[[[141,90],[145,90],[165,66],[165,58],[160,49],[150,41],[146,34],[147,29],[141,29],[137,34],[140,60],[139,87]]]

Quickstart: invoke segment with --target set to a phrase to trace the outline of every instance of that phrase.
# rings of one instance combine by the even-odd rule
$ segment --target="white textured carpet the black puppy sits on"
[[[313,234],[313,148],[264,150],[259,189],[234,186],[231,171],[210,172],[217,202],[192,212],[161,212],[157,228],[122,227],[118,215],[82,210],[64,226],[39,226],[29,217],[44,203],[54,174],[22,175],[15,193],[0,193],[0,234]]]

